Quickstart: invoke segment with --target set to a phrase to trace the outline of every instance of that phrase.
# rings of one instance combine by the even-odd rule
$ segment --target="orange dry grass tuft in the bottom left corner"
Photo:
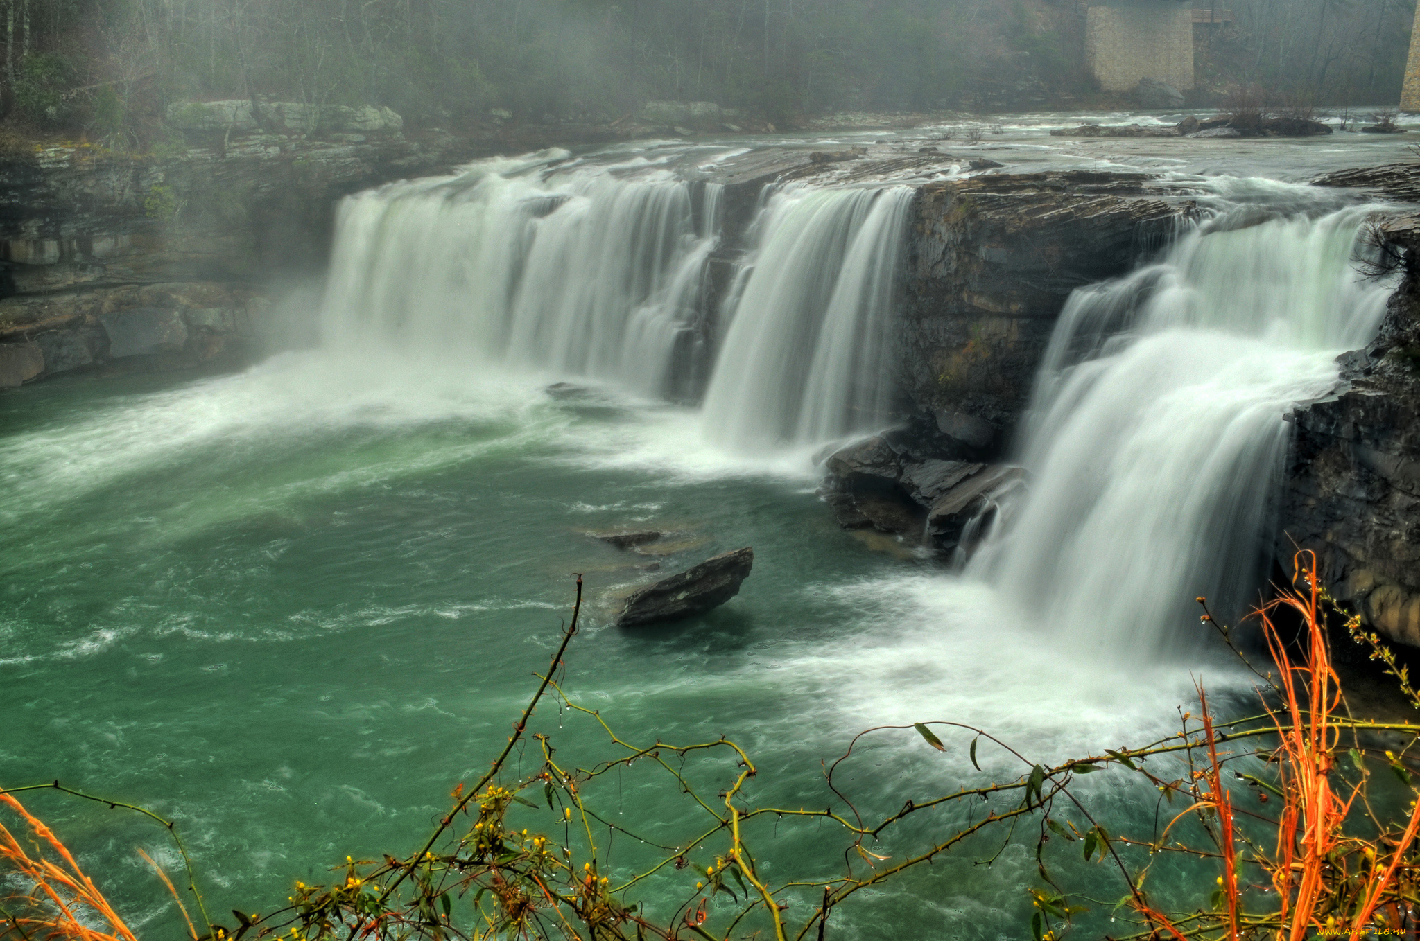
[[[28,825],[34,853],[26,852],[0,823],[0,863],[30,883],[27,891],[4,898],[0,941],[138,941],[50,827],[11,795],[0,793],[0,803]],[[58,862],[48,859],[45,850]],[[91,928],[85,921],[104,928]]]

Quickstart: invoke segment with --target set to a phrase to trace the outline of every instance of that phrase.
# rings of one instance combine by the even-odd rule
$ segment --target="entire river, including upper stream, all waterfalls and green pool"
[[[1403,145],[1367,135],[1069,141],[1045,136],[1047,123],[1069,121],[1003,119],[980,142],[958,131],[939,146],[1011,169],[1147,169],[1196,186],[1220,216],[1248,204],[1278,220],[1251,236],[1227,226],[1196,233],[1207,246],[1235,241],[1210,260],[1184,238],[1162,260],[1164,275],[1136,275],[1211,288],[1201,317],[1160,301],[1129,343],[1110,348],[1088,339],[1102,315],[1076,305],[1078,329],[1058,342],[1078,351],[1088,339],[1103,355],[1086,362],[1088,376],[1047,376],[1037,414],[1065,412],[1018,449],[1065,490],[1039,488],[1055,510],[1025,505],[1015,534],[998,534],[967,573],[839,529],[815,495],[809,460],[824,441],[882,420],[882,390],[865,386],[879,356],[869,341],[890,329],[873,318],[886,317],[882,280],[895,265],[885,246],[900,237],[893,185],[913,180],[882,182],[870,199],[791,192],[765,209],[761,264],[746,274],[741,305],[841,311],[846,334],[815,334],[822,349],[795,339],[799,328],[765,334],[737,321],[743,335],[726,343],[744,352],[733,370],[730,358],[717,366],[701,410],[666,395],[674,331],[657,332],[673,326],[684,273],[714,238],[713,206],[693,204],[709,197],[676,189],[673,169],[770,145],[912,149],[940,133],[638,142],[571,160],[490,162],[471,176],[351,200],[331,287],[310,311],[322,336],[315,348],[237,375],[77,378],[0,396],[0,708],[10,720],[0,781],[57,778],[168,815],[195,850],[213,911],[270,910],[293,880],[320,880],[346,854],[417,844],[453,786],[506,741],[569,616],[574,572],[585,573],[589,603],[568,694],[629,741],[736,739],[758,761],[750,796],[761,803],[831,803],[819,761],[870,725],[988,727],[1045,761],[1169,735],[1176,708],[1193,705],[1196,677],[1225,708],[1244,708],[1245,677],[1218,651],[1139,642],[1125,626],[1146,607],[1143,620],[1201,630],[1157,596],[1203,590],[1184,582],[1213,545],[1197,541],[1217,507],[1139,519],[1129,501],[1146,500],[1137,491],[1157,480],[1189,492],[1194,444],[1238,427],[1245,440],[1210,473],[1255,466],[1265,490],[1285,440],[1268,436],[1284,433],[1291,397],[1325,392],[1332,359],[1373,332],[1384,298],[1353,284],[1349,243],[1363,210],[1346,206],[1356,200],[1296,182],[1397,159]],[[561,162],[559,176],[538,169],[548,160]],[[496,193],[446,199],[450,187],[479,185]],[[534,190],[555,199],[517,224],[544,224],[513,233],[500,194],[515,192],[525,206]],[[564,204],[599,221],[577,229]],[[419,216],[429,211],[444,216]],[[408,229],[390,234],[398,224]],[[558,224],[568,231],[555,234]],[[513,248],[523,253],[515,263]],[[1295,267],[1220,263],[1298,251],[1312,253],[1292,258],[1301,270],[1325,277],[1296,287]],[[836,253],[831,275],[791,271],[825,253]],[[1250,277],[1299,294],[1277,304],[1224,290]],[[1325,324],[1308,332],[1308,317]],[[1302,322],[1294,332],[1284,329],[1289,318]],[[775,342],[788,352],[755,365]],[[795,356],[797,378],[775,372]],[[1058,370],[1076,365],[1062,356]],[[1251,392],[1238,392],[1238,373]],[[558,382],[577,389],[550,393]],[[1203,416],[1200,386],[1213,405]],[[1150,451],[1162,477],[1130,480],[1109,468],[1139,467],[1140,449],[1159,444],[1157,422],[1119,417],[1122,400],[1143,399],[1164,427],[1179,427],[1180,407],[1197,424],[1194,439]],[[1071,492],[1082,474],[1118,485]],[[1227,525],[1255,528],[1238,517]],[[588,535],[629,527],[670,535],[643,552]],[[1150,555],[1160,532],[1187,545]],[[755,549],[754,573],[724,607],[656,630],[609,624],[615,595],[649,578],[648,566],[672,571],[743,545]],[[1139,546],[1149,561],[1135,571]],[[551,708],[537,728],[565,739],[568,754],[615,754],[589,722]],[[890,813],[907,796],[1022,772],[983,748],[978,774],[967,739],[944,738],[946,755],[910,730],[869,747],[848,782],[861,808]],[[723,766],[700,772],[707,791],[724,786]],[[1109,772],[1083,786],[1106,816],[1153,813],[1133,779]],[[649,775],[606,779],[596,798],[648,839],[694,830],[677,789]],[[28,803],[142,937],[172,937],[172,903],[131,849],[172,864],[159,827],[54,795]],[[879,852],[905,852],[953,819]],[[774,880],[831,876],[846,844],[790,825],[758,840]],[[831,935],[1024,937],[1024,887],[1037,881],[1028,843],[991,866],[977,863],[997,844],[970,843],[835,913]],[[625,874],[645,859],[642,847],[613,846],[611,864]],[[1123,891],[1100,867],[1061,866],[1102,897]],[[1197,880],[1211,884],[1181,866],[1153,879],[1190,907]],[[663,904],[686,894],[687,880],[667,870],[642,897]]]

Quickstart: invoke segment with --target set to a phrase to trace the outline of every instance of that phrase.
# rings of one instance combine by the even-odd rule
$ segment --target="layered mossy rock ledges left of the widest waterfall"
[[[165,155],[64,145],[0,158],[0,387],[81,368],[239,363],[258,345],[267,290],[324,267],[342,196],[612,136],[213,131]]]

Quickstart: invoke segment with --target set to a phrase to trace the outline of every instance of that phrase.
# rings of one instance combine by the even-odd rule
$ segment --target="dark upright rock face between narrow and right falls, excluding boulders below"
[[[988,175],[924,186],[897,362],[905,412],[939,447],[934,456],[998,456],[1071,291],[1126,274],[1190,211],[1143,175]]]

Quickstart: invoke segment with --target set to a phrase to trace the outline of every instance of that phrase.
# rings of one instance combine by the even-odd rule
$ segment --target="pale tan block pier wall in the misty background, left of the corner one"
[[[1089,7],[1085,64],[1105,91],[1133,91],[1156,78],[1193,88],[1191,4],[1146,0],[1127,7]]]

